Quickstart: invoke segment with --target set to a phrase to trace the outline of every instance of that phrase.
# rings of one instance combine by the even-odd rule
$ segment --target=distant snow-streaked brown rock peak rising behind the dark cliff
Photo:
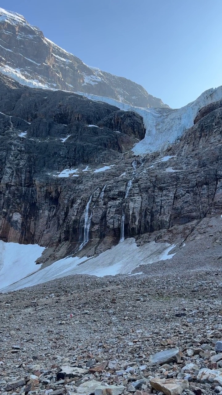
[[[85,92],[138,107],[169,107],[141,85],[89,67],[23,16],[0,8],[0,71],[29,87]]]

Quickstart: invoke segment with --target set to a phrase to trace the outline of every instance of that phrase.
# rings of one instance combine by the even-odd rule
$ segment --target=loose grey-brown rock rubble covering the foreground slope
[[[0,394],[222,394],[221,291],[214,268],[2,293]]]

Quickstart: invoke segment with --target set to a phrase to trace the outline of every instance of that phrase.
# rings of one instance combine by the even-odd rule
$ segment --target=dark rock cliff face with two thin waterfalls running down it
[[[163,229],[222,213],[221,103],[142,158],[131,151],[145,135],[133,111],[5,76],[0,111],[0,239],[51,247],[42,261],[130,236],[161,240]]]

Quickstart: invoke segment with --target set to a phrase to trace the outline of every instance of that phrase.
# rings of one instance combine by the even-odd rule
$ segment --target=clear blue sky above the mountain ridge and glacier
[[[1,0],[89,66],[171,107],[222,85],[222,0]]]

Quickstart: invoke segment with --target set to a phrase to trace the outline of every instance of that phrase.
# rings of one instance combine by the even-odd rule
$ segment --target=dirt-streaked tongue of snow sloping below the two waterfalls
[[[175,245],[169,243],[155,243],[154,241],[138,247],[134,238],[125,239],[122,243],[102,252],[99,256],[60,259],[0,291],[18,290],[68,275],[87,274],[98,277],[115,276],[117,274],[128,275],[139,265],[148,265],[172,258],[175,254],[168,255],[168,253],[174,247]],[[23,256],[20,256],[19,259],[22,261]],[[17,266],[20,266],[19,260],[17,260]],[[11,273],[13,273],[13,267],[11,267]]]

